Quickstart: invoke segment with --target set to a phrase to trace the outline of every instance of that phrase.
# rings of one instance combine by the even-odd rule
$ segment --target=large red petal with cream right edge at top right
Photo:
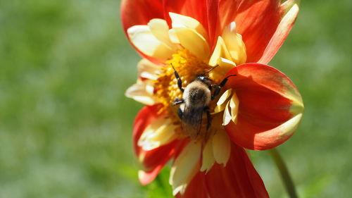
[[[280,6],[280,1],[272,0],[223,0],[219,8],[220,27],[223,29],[235,21],[237,32],[246,44],[247,62],[266,64],[279,50],[296,20],[297,15],[289,24],[280,23],[286,5]]]

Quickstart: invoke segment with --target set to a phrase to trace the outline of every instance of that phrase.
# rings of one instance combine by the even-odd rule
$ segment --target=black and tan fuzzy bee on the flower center
[[[177,87],[181,90],[182,99],[176,98],[171,106],[180,105],[177,115],[182,120],[182,130],[191,136],[193,139],[199,137],[201,125],[203,121],[203,113],[206,113],[207,123],[206,131],[211,125],[211,116],[209,104],[220,93],[222,87],[225,86],[228,78],[236,75],[228,75],[219,85],[212,84],[213,80],[208,78],[207,74],[218,66],[211,68],[205,73],[199,74],[189,82],[186,87],[182,87],[182,80],[177,70],[174,70],[175,78],[177,79]]]

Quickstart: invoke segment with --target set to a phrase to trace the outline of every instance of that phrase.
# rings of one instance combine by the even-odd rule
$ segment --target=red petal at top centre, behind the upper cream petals
[[[208,30],[210,39],[210,49],[214,46],[215,35],[219,28],[218,26],[218,8],[219,1],[217,0],[165,0],[165,18],[171,25],[169,12],[179,13],[183,16],[189,16],[198,20],[203,27]]]

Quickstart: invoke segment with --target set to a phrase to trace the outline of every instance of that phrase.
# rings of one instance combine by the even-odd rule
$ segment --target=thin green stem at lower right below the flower
[[[280,156],[279,151],[277,149],[270,149],[270,155],[274,160],[277,169],[279,169],[279,173],[281,175],[282,181],[284,182],[284,186],[289,194],[290,198],[298,198],[296,189],[294,187],[294,182],[292,181],[291,176],[289,175],[289,170],[287,169],[286,164],[284,163],[284,159]]]

